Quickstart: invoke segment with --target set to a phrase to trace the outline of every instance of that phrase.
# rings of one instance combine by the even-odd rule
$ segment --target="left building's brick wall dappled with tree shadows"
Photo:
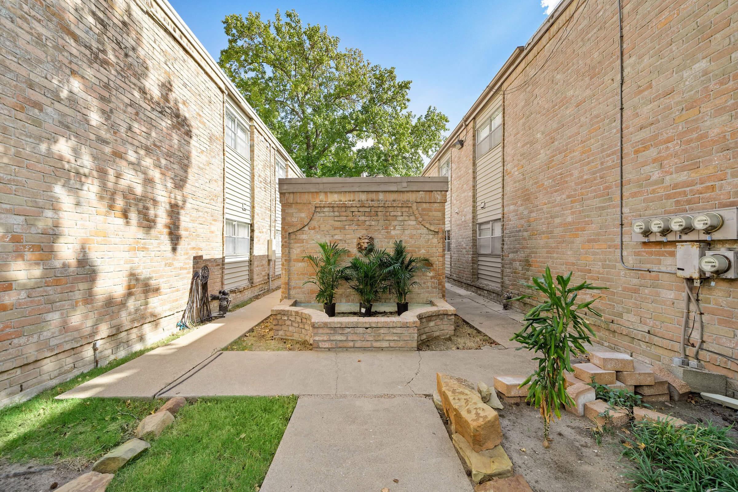
[[[176,330],[224,208],[223,83],[156,2],[2,11],[0,405]]]

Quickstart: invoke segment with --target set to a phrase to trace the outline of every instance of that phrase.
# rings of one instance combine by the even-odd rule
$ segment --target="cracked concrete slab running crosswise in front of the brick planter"
[[[162,393],[227,395],[430,395],[435,373],[492,385],[495,375],[525,374],[533,361],[514,350],[439,352],[224,352]]]

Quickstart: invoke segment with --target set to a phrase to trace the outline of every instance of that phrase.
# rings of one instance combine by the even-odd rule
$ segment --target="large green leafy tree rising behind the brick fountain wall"
[[[220,66],[306,176],[413,176],[443,143],[449,119],[407,110],[410,80],[339,48],[326,27],[279,10],[227,15]]]

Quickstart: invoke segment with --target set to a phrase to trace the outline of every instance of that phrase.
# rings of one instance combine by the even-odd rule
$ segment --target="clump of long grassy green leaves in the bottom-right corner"
[[[623,443],[633,467],[624,475],[637,492],[738,492],[738,448],[731,427],[676,428],[669,421],[633,423]]]

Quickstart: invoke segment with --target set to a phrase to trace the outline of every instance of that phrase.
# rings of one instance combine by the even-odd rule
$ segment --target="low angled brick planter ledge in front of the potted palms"
[[[285,299],[272,309],[275,336],[305,340],[314,350],[417,350],[418,342],[452,336],[455,308],[443,299],[401,316],[329,318]]]

